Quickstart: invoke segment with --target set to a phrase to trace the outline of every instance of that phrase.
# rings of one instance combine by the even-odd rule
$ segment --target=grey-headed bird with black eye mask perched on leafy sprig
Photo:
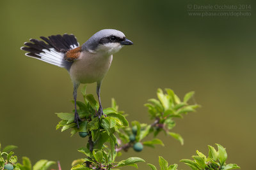
[[[74,97],[74,122],[79,129],[81,118],[77,113],[77,89],[79,85],[97,83],[97,97],[99,110],[95,117],[104,115],[100,101],[100,87],[102,80],[113,60],[113,54],[123,46],[133,45],[132,41],[125,37],[125,34],[116,29],[102,29],[83,45],[79,46],[76,36],[73,34],[60,34],[40,36],[41,40],[29,39],[20,49],[26,51],[26,56],[42,60],[49,64],[67,69],[73,83]]]

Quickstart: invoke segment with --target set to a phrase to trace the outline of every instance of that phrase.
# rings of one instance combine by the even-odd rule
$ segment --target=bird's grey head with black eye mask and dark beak
[[[102,29],[82,45],[82,50],[113,54],[118,52],[122,46],[132,44],[132,41],[125,38],[123,32],[115,29]]]

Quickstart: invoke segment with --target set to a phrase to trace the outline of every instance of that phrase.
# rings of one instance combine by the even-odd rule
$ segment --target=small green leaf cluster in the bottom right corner
[[[226,164],[227,160],[227,152],[223,146],[216,144],[218,146],[218,152],[214,147],[208,146],[209,154],[206,157],[203,153],[196,151],[195,156],[193,156],[194,160],[190,159],[182,159],[180,162],[184,162],[191,169],[205,169],[205,170],[219,170],[219,169],[240,169],[237,164]]]

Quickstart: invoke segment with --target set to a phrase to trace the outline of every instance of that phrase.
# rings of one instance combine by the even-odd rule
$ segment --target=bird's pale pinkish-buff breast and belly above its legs
[[[72,81],[94,83],[101,81],[111,66],[111,56],[88,55],[76,60],[70,67]]]

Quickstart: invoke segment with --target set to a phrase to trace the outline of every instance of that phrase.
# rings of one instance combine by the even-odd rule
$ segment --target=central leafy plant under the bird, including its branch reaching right
[[[74,113],[56,113],[61,119],[56,129],[61,129],[61,132],[71,129],[72,136],[79,132],[79,136],[83,138],[88,136],[89,139],[86,147],[78,150],[86,157],[75,160],[72,169],[90,169],[91,167],[111,169],[127,165],[137,167],[136,162],[127,163],[131,158],[124,162],[115,162],[116,156],[121,155],[120,151],[127,151],[129,148],[134,148],[136,152],[140,152],[143,150],[143,146],[152,148],[155,145],[164,146],[163,141],[156,138],[160,131],[164,131],[179,140],[183,145],[184,141],[179,134],[169,132],[175,126],[173,118],[180,118],[182,114],[195,111],[198,105],[188,104],[189,99],[194,94],[193,92],[186,94],[182,102],[172,90],[166,89],[166,92],[164,94],[163,90],[158,89],[158,99],[150,99],[150,103],[145,104],[155,122],[148,125],[133,121],[131,128],[125,118],[124,111],[118,111],[115,99],[111,100],[111,108],[103,110],[106,117],[98,118],[95,113],[97,113],[99,104],[92,94],[86,94],[86,87],[84,87],[82,89],[84,101],[77,101],[79,108],[77,112],[82,119],[82,122],[79,122],[79,129],[74,124]],[[154,134],[154,138],[145,140],[144,138],[151,133]],[[86,163],[81,162],[81,160]]]

